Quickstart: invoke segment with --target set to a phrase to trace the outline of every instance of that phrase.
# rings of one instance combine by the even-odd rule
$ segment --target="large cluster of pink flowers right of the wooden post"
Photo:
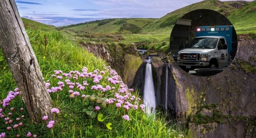
[[[111,69],[110,66],[105,67],[105,71],[99,71],[96,69],[92,72],[88,72],[87,67],[83,67],[82,72],[70,71],[69,73],[63,73],[60,70],[56,70],[52,77],[56,77],[59,82],[57,83],[57,86],[52,86],[51,88],[49,80],[44,82],[49,93],[55,93],[63,90],[66,91],[65,86],[67,86],[70,98],[76,98],[81,95],[81,98],[84,99],[86,98],[85,93],[88,90],[87,87],[91,83],[89,89],[95,91],[95,94],[98,92],[104,93],[101,95],[105,95],[106,104],[115,104],[116,108],[122,108],[124,109],[124,112],[131,109],[138,110],[138,107],[145,112],[145,105],[139,105],[140,98],[132,94],[134,90],[128,89],[128,86],[123,83],[118,73]],[[107,82],[103,80],[103,83],[101,83],[101,80],[104,78]],[[106,96],[107,94],[110,94],[110,96]],[[95,110],[100,110],[100,107],[95,106]],[[52,112],[56,113],[57,111],[53,111],[52,109]],[[127,116],[128,115],[126,115],[124,119],[130,120],[127,119]],[[44,117],[43,120],[47,120],[45,118],[46,117]],[[49,123],[48,128],[52,128],[53,124]]]

